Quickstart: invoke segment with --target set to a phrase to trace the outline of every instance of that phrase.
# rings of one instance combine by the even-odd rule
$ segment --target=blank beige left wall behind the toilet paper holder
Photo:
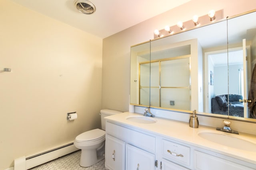
[[[102,39],[0,0],[0,170],[100,127],[101,85]]]

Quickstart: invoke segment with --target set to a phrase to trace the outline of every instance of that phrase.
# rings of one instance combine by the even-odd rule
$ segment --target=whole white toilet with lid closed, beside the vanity
[[[74,146],[81,149],[80,166],[92,166],[105,158],[106,122],[104,117],[118,113],[122,112],[111,109],[100,110],[102,129],[86,131],[76,137]]]

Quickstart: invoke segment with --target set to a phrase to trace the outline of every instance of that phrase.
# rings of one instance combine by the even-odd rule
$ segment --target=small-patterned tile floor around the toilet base
[[[58,159],[31,168],[30,170],[106,170],[105,160],[90,167],[84,168],[79,165],[81,150],[67,154]]]

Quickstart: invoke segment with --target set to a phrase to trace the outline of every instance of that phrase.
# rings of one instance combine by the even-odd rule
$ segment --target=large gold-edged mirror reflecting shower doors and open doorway
[[[247,107],[256,58],[252,18],[256,12],[132,46],[130,103],[254,118]]]

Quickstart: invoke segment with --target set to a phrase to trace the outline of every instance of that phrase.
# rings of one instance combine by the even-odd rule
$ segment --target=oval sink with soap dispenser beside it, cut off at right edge
[[[198,135],[208,141],[218,143],[227,147],[232,147],[235,149],[248,150],[256,152],[256,142],[250,142],[242,138],[233,136],[234,134],[220,134],[213,132],[200,132]]]

